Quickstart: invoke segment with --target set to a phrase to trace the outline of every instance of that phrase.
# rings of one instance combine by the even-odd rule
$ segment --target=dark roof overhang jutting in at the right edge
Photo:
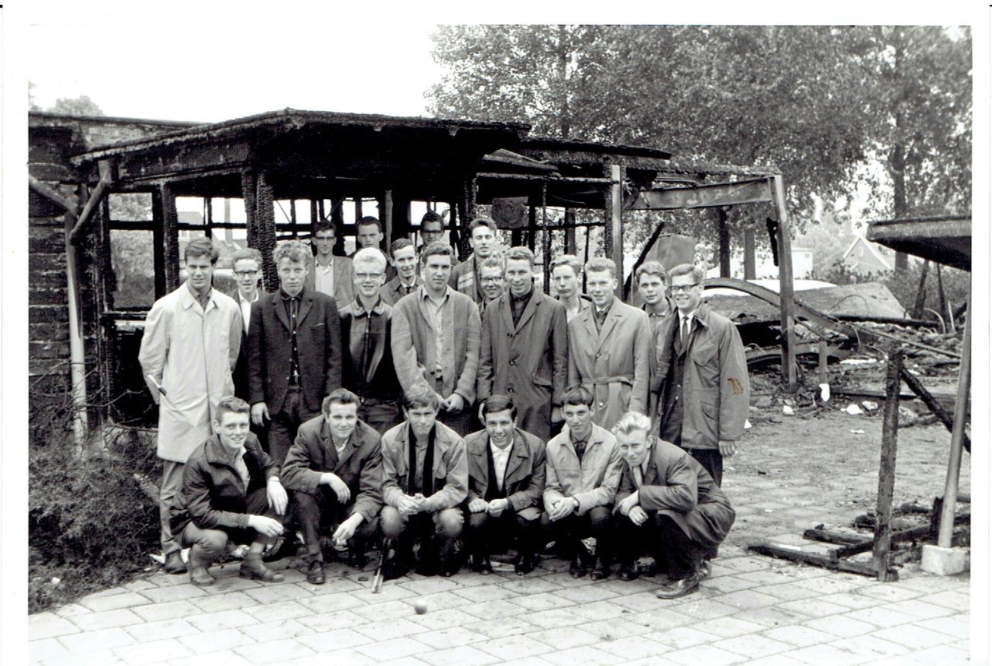
[[[970,215],[879,220],[865,236],[897,252],[971,271]]]

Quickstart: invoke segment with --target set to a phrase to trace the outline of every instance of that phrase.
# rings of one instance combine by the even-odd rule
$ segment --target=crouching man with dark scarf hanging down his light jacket
[[[384,578],[404,575],[413,561],[413,542],[421,537],[417,572],[451,576],[457,570],[452,552],[464,518],[461,504],[468,486],[465,442],[437,420],[434,389],[414,386],[404,396],[407,420],[382,436],[383,484],[381,525],[396,543],[396,556]]]

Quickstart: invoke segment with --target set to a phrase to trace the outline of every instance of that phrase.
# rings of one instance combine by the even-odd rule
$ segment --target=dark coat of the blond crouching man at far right
[[[613,510],[638,491],[641,508],[672,516],[693,541],[706,545],[721,543],[736,517],[730,500],[695,458],[675,444],[654,436],[651,439],[654,444],[643,485],[637,488],[634,473],[624,461]],[[618,516],[618,519],[629,518]]]

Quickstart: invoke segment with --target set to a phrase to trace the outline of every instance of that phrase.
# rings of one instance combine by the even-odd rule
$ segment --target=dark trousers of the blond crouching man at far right
[[[708,544],[690,539],[671,515],[648,511],[648,519],[635,525],[626,515],[616,516],[616,548],[620,560],[631,562],[648,552],[659,572],[673,581],[688,578],[702,560]]]

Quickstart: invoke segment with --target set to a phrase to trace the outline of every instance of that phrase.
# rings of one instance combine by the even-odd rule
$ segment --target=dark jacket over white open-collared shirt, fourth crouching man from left
[[[473,432],[465,437],[468,452],[468,501],[484,500],[489,490],[489,433]],[[510,458],[503,477],[506,499],[518,515],[534,520],[541,515],[545,492],[545,444],[520,428],[513,431]]]

